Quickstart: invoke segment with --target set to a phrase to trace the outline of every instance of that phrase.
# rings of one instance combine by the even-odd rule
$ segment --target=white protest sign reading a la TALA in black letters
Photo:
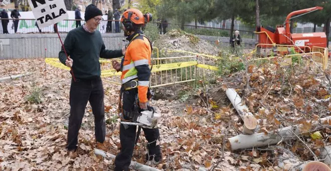
[[[29,0],[29,4],[40,29],[68,18],[63,0]]]

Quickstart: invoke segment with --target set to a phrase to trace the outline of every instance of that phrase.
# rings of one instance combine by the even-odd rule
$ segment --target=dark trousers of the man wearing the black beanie
[[[100,77],[94,79],[71,80],[70,87],[70,116],[68,126],[68,150],[76,149],[78,131],[82,124],[87,102],[90,102],[94,115],[95,139],[103,143],[106,134],[104,117],[104,90]]]

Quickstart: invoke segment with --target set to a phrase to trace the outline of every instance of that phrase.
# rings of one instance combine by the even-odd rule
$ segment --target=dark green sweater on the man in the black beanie
[[[106,50],[101,34],[86,32],[83,26],[71,30],[64,41],[68,56],[73,60],[72,70],[76,78],[93,79],[100,77],[99,57],[116,58],[123,56],[122,50]],[[67,56],[63,48],[59,59],[65,65]]]

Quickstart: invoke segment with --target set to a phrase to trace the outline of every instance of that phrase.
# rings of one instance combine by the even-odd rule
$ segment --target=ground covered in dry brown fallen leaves
[[[79,132],[79,148],[68,153],[69,72],[45,65],[43,59],[2,60],[0,65],[0,77],[33,73],[0,82],[0,170],[112,170],[113,161],[95,155],[93,149],[114,155],[120,149],[118,85],[104,82],[105,143],[95,143],[93,114],[88,105]],[[330,74],[328,70],[325,73]],[[159,125],[163,160],[153,166],[161,170],[280,170],[278,154],[285,158],[293,155],[299,161],[313,160],[314,155],[319,158],[319,150],[331,141],[331,122],[312,126],[330,115],[325,73],[313,64],[281,67],[277,62],[249,63],[246,71],[217,77],[212,85],[206,79],[197,82],[196,90],[182,85],[184,93],[176,100],[152,101],[163,116]],[[293,137],[271,149],[231,151],[227,139],[240,134],[243,127],[226,100],[227,88],[236,89],[250,112],[260,119],[260,132],[302,123],[298,135],[302,142]],[[132,160],[145,163],[145,151],[142,132]]]

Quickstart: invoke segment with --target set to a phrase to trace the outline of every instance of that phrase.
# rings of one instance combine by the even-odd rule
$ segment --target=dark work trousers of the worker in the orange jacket
[[[138,89],[131,89],[129,91],[124,91],[123,93],[123,110],[130,112],[133,109],[135,102],[135,96],[138,94]],[[129,119],[124,116],[124,119]],[[127,128],[125,128],[127,126]],[[119,128],[119,139],[121,141],[121,151],[117,154],[115,158],[115,171],[119,170],[129,170],[129,165],[133,155],[134,143],[136,138],[136,126],[120,125]],[[156,146],[156,140],[159,139],[159,131],[156,129],[146,129],[142,128],[145,138],[148,141],[148,154],[149,160],[154,157],[155,161],[160,161],[161,151],[160,146]],[[148,156],[148,155],[147,155]]]

